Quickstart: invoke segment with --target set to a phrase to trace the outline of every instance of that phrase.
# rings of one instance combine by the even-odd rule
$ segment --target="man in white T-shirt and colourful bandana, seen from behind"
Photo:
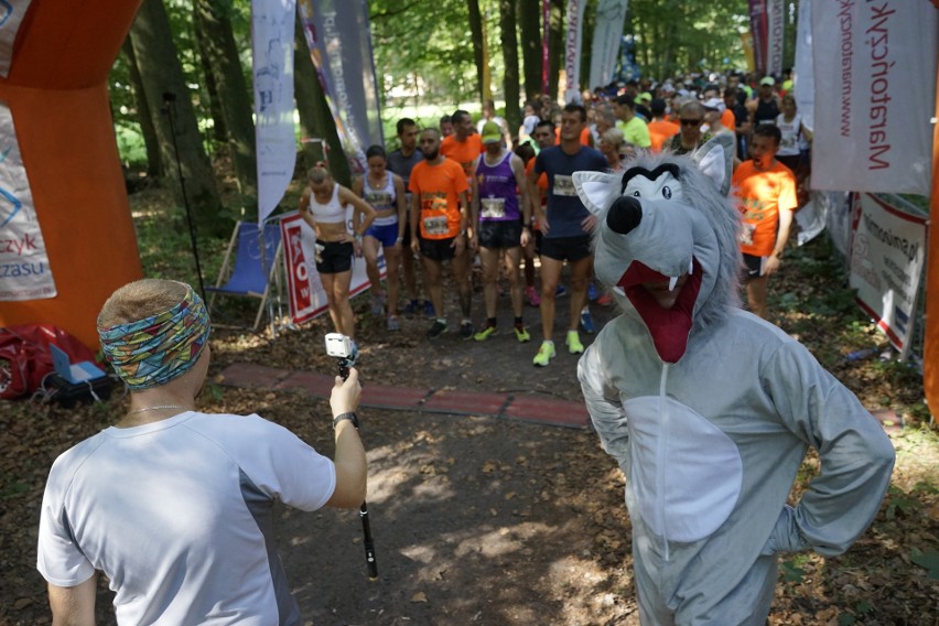
[[[365,499],[358,373],[337,377],[330,399],[334,462],[257,414],[196,410],[209,330],[185,283],[145,279],[105,303],[98,336],[130,407],[50,472],[36,566],[55,624],[95,623],[99,573],[121,625],[302,624],[273,504],[310,511]]]

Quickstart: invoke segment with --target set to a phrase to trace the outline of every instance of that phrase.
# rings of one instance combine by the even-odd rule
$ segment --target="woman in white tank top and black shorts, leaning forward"
[[[352,258],[361,256],[361,237],[375,219],[375,209],[336,183],[325,163],[311,168],[306,182],[300,217],[316,233],[316,271],[326,292],[330,317],[337,333],[355,341],[355,315],[349,304]]]

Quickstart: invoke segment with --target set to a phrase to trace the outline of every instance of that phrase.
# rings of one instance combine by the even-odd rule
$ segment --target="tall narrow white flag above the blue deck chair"
[[[251,0],[258,224],[263,224],[277,208],[296,164],[293,122],[295,10],[295,0]]]

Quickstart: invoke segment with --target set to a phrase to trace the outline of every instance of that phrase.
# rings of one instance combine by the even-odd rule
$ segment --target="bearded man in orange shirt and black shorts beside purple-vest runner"
[[[466,251],[466,226],[470,218],[467,191],[470,185],[456,161],[440,152],[440,131],[425,128],[420,148],[424,160],[411,170],[408,183],[411,192],[411,249],[421,253],[428,293],[436,311],[436,320],[428,331],[435,339],[446,332],[443,310],[443,261],[450,261],[453,281],[460,292],[460,337],[473,337],[470,317],[470,255]],[[420,237],[418,227],[420,226]]]

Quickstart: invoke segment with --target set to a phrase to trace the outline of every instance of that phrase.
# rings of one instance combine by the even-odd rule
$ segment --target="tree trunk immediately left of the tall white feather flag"
[[[251,118],[251,89],[246,84],[238,57],[230,13],[231,0],[195,2],[194,15],[222,105],[235,174],[241,184],[241,193],[257,196],[258,163]]]

